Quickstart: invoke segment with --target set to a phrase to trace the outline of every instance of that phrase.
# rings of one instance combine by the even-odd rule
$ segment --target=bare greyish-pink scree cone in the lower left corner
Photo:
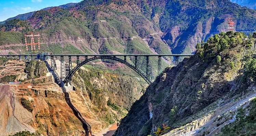
[[[35,132],[35,129],[28,125],[33,119],[33,115],[13,96],[14,88],[9,85],[3,85],[0,86],[0,90],[1,136],[25,130]]]

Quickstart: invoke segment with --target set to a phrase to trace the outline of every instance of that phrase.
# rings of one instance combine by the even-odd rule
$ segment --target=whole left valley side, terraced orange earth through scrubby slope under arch
[[[0,65],[1,136],[95,134],[123,118],[146,87],[86,65],[73,77],[75,91],[63,92],[44,62],[0,57]],[[9,85],[12,81],[22,84]]]

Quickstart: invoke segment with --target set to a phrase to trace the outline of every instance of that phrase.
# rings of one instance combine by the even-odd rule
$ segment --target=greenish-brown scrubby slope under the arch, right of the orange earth
[[[128,76],[120,76],[109,69],[101,70],[90,65],[79,69],[72,78],[72,83],[93,104],[91,110],[97,113],[104,126],[123,118],[143,89]]]

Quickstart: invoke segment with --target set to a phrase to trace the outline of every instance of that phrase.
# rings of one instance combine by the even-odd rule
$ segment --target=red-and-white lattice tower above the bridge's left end
[[[31,32],[28,35],[25,34],[24,38],[25,38],[25,46],[27,51],[28,51],[29,45],[30,45],[31,51],[36,51],[36,45],[38,46],[38,51],[40,50],[40,34],[39,33],[37,35],[34,35],[33,32]],[[37,43],[35,43],[35,39]]]

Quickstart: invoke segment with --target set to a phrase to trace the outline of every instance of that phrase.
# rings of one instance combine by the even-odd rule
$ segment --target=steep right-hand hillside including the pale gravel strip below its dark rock
[[[243,33],[233,32],[210,37],[196,46],[194,56],[166,68],[132,105],[115,136],[220,133],[236,120],[238,108],[246,107],[256,96],[255,39],[241,40],[243,37]]]

